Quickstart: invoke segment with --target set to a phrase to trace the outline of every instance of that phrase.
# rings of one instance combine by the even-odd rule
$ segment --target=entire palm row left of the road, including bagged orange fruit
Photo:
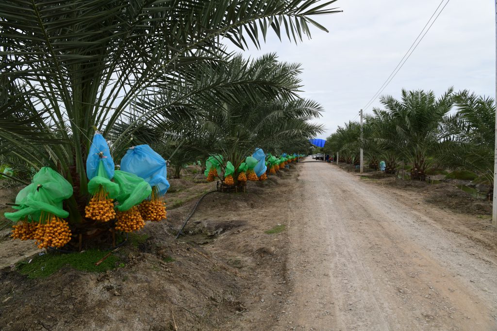
[[[297,42],[326,31],[311,17],[332,2],[6,1],[0,184],[26,185],[5,215],[13,237],[81,250],[165,219],[166,160],[175,178],[200,160],[228,187],[296,160],[323,131],[310,123],[322,107],[298,95],[300,66],[223,42]]]

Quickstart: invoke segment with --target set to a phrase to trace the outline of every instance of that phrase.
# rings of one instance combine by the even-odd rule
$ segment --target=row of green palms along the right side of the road
[[[325,148],[340,161],[358,162],[359,149],[372,167],[387,169],[407,162],[425,173],[429,168],[464,169],[493,183],[495,101],[452,88],[436,97],[432,91],[402,90],[401,99],[383,96],[382,108],[365,117],[363,138],[357,122],[331,134]]]

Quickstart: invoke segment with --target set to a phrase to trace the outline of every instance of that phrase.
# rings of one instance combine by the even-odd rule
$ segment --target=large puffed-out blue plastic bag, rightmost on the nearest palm
[[[166,160],[149,145],[128,149],[121,160],[121,170],[143,178],[151,187],[157,186],[161,196],[169,189]]]

